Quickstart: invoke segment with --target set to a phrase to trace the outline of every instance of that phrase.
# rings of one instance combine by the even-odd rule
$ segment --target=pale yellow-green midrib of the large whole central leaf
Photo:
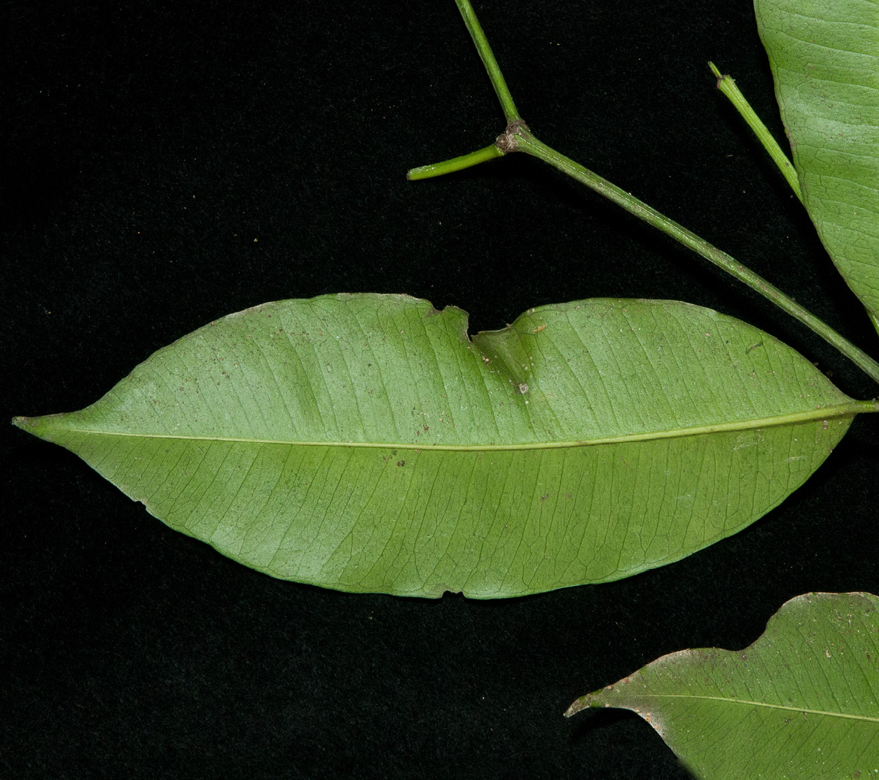
[[[808,412],[793,412],[789,414],[775,415],[756,419],[735,420],[726,423],[716,423],[708,426],[693,426],[686,428],[670,428],[664,431],[650,431],[643,434],[620,434],[605,436],[595,439],[575,441],[528,441],[509,444],[420,444],[416,442],[398,441],[291,441],[283,439],[255,439],[234,436],[199,436],[193,434],[140,434],[127,431],[98,431],[90,428],[74,428],[64,426],[69,433],[91,434],[101,436],[123,436],[139,439],[177,439],[185,441],[223,441],[245,444],[275,444],[290,447],[345,447],[345,448],[378,448],[378,449],[412,449],[424,451],[454,451],[454,452],[486,452],[504,450],[527,450],[527,449],[564,449],[575,447],[594,447],[602,444],[620,444],[634,441],[656,441],[661,439],[676,439],[684,436],[698,436],[703,434],[720,434],[731,431],[758,430],[767,427],[779,427],[795,425],[802,422],[815,420],[838,419],[842,417],[854,417],[860,412],[875,411],[874,405],[869,401],[852,401],[847,404],[828,406],[823,409],[814,409]],[[35,418],[39,419],[39,418]],[[16,424],[26,426],[31,419],[16,418]]]

